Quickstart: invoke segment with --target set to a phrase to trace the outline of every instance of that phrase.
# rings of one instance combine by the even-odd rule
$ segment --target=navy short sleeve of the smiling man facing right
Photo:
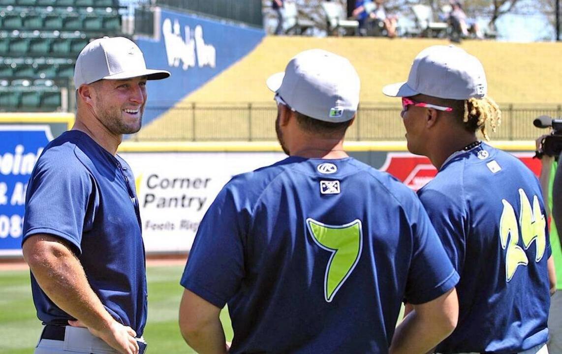
[[[82,234],[96,209],[93,189],[92,177],[73,153],[47,151],[28,183],[22,244],[31,235],[50,234],[67,240],[80,254]]]

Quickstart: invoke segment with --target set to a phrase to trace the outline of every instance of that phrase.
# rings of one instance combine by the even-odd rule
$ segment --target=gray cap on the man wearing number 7
[[[327,122],[352,119],[359,105],[357,71],[346,58],[322,49],[298,53],[266,84],[293,110]]]

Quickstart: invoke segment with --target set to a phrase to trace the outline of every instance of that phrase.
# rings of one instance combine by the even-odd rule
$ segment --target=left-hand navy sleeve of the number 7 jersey
[[[227,185],[201,221],[180,281],[219,308],[235,294],[244,276],[242,213]]]

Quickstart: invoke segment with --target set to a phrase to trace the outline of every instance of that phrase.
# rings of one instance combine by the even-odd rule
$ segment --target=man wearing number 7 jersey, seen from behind
[[[454,329],[459,278],[415,194],[349,157],[359,76],[311,49],[271,76],[277,164],[235,176],[198,229],[180,329],[197,352],[425,353]],[[415,311],[395,329],[402,299]]]

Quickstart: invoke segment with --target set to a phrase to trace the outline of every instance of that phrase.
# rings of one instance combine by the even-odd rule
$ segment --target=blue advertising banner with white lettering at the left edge
[[[52,139],[47,124],[0,125],[0,256],[21,255],[25,190]]]

